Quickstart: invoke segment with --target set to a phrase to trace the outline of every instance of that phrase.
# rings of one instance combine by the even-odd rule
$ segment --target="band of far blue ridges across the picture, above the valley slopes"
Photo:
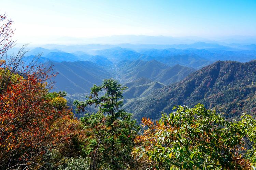
[[[254,47],[253,45],[250,47]],[[93,57],[93,55],[77,52],[76,53],[67,53],[57,49],[48,50],[43,48],[35,48],[26,53],[25,58],[27,62],[31,60],[32,55],[42,54],[38,62],[44,61],[92,61],[101,66],[108,65],[111,66],[112,63],[118,63],[123,60],[143,60],[151,61],[156,60],[161,63],[165,63],[169,66],[174,66],[179,64],[181,66],[192,67],[195,69],[200,69],[204,66],[207,66],[214,61],[225,61],[225,60],[235,60],[239,62],[247,62],[256,59],[256,51],[254,50],[236,50],[236,51],[226,51],[219,49],[140,49],[140,50],[131,50],[127,48],[110,48],[105,50],[98,50],[94,53],[98,54]],[[103,62],[102,60],[108,60],[108,63]]]

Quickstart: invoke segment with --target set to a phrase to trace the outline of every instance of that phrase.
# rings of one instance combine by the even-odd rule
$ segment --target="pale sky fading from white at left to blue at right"
[[[18,43],[112,35],[256,36],[256,0],[1,0]]]

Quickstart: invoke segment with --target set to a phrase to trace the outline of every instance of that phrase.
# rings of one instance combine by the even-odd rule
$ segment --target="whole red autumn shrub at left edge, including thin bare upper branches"
[[[46,82],[55,75],[51,67],[37,66],[40,55],[27,65],[26,45],[7,55],[15,43],[12,23],[0,15],[0,169],[37,169],[46,151],[79,135],[80,122],[66,99],[46,97],[52,88]]]

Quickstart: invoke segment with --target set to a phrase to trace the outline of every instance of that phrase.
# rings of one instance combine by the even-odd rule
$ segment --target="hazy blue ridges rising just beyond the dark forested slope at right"
[[[214,61],[221,60],[233,60],[239,62],[248,62],[254,60],[255,51],[246,51],[246,50],[235,50],[228,51],[224,49],[141,49],[140,53],[150,56],[148,58],[154,58],[157,61],[165,63],[169,66],[175,64],[180,64],[182,66],[193,67],[200,69],[204,66],[210,65]]]

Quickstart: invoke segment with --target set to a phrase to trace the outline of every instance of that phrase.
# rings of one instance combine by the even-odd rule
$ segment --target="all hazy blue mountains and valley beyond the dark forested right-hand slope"
[[[85,46],[90,49],[96,48],[98,45]],[[113,45],[100,46],[105,48],[113,47]],[[136,45],[130,46],[135,47]],[[178,47],[178,45],[172,46]],[[236,44],[233,46],[239,46],[243,49],[255,48],[255,45],[241,46]],[[194,72],[195,69],[208,66],[217,60],[246,62],[256,59],[254,50],[231,50],[231,47],[202,42],[179,45],[182,48],[194,47],[187,49],[129,49],[113,47],[94,50],[94,54],[97,55],[79,51],[81,50],[80,48],[84,47],[83,45],[77,46],[77,48],[75,48],[76,46],[71,46],[75,48],[73,53],[62,51],[62,49],[66,50],[66,47],[69,48],[70,46],[57,47],[61,47],[61,49],[44,49],[41,47],[32,49],[26,53],[28,56],[24,57],[24,62],[29,63],[34,60],[35,55],[41,54],[41,57],[37,58],[37,62],[53,63],[54,70],[59,72],[56,77],[56,89],[66,90],[70,94],[88,92],[93,84],[99,84],[102,79],[111,77],[121,83],[136,82],[140,78],[146,78],[151,82],[141,85],[144,85],[144,88],[148,88],[152,85],[150,83],[157,82],[159,85],[152,88],[156,89],[156,87],[161,87],[162,85],[179,82]],[[201,49],[203,47],[205,49]],[[79,74],[79,70],[82,70],[81,74]],[[137,91],[140,92],[133,93],[131,96],[138,97],[138,94],[144,93],[141,85],[136,87]]]

